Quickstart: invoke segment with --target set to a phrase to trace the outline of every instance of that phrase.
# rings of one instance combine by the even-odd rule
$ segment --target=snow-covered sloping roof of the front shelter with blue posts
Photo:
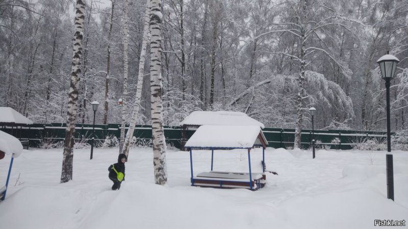
[[[198,127],[185,147],[252,148],[253,145],[261,145],[260,133],[267,144],[259,126],[203,125]]]

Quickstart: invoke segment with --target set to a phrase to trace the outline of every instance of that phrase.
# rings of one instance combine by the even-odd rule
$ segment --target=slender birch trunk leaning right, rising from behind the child
[[[139,115],[140,110],[140,99],[142,97],[142,86],[143,86],[143,76],[144,76],[144,62],[146,58],[146,47],[147,41],[150,40],[149,36],[149,17],[150,17],[150,0],[146,1],[146,10],[144,13],[144,27],[143,27],[143,40],[142,40],[142,48],[140,51],[140,59],[139,59],[139,73],[137,78],[137,85],[136,85],[136,96],[135,101],[133,104],[133,111],[132,111],[132,118],[131,123],[129,125],[129,130],[127,130],[126,137],[124,139],[123,148],[121,153],[125,154],[127,158],[129,158],[129,148],[130,143],[133,137],[133,132],[135,131],[136,126],[136,119]]]

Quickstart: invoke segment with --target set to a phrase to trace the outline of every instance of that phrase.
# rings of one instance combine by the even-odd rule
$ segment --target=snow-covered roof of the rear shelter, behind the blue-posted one
[[[250,118],[246,113],[235,111],[194,111],[180,123],[180,126],[183,125],[241,125],[265,128],[264,124]]]

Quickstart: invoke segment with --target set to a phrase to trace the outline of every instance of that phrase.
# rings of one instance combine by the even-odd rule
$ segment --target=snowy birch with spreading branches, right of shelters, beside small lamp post
[[[295,43],[297,47],[295,53],[288,53],[286,51],[272,53],[283,54],[287,56],[287,58],[299,63],[294,148],[300,148],[305,99],[309,97],[304,90],[305,71],[308,65],[311,64],[311,58],[316,56],[316,52],[320,52],[321,55],[333,60],[346,77],[351,76],[352,72],[348,66],[337,60],[333,53],[325,49],[321,38],[322,35],[326,34],[325,28],[328,27],[338,26],[349,30],[347,23],[344,23],[349,19],[337,13],[331,6],[327,4],[324,5],[324,3],[319,1],[309,3],[307,0],[302,0],[297,4],[287,1],[286,4],[290,10],[282,11],[283,18],[279,23],[274,24],[276,27],[270,32],[259,35],[257,38],[271,33],[280,33],[282,35],[288,34],[288,36],[292,36],[297,40]],[[290,12],[290,14],[288,14],[288,12]],[[293,18],[294,20],[292,20]],[[357,20],[351,21],[359,23]],[[319,44],[319,41],[323,43],[323,45]]]

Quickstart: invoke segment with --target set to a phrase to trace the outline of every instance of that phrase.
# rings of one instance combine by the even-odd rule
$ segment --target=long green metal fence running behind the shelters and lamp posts
[[[129,126],[126,125],[126,129]],[[41,142],[57,142],[65,139],[66,124],[33,124],[27,127],[7,127],[0,126],[0,130],[16,136],[20,140],[29,140],[30,147],[39,147]],[[188,130],[189,138],[195,130]],[[295,138],[294,129],[264,128],[264,135],[270,147],[288,148],[293,147]],[[75,141],[87,141],[92,138],[91,124],[77,124],[75,126]],[[365,138],[386,139],[386,132],[374,131],[347,131],[347,130],[315,130],[315,139],[320,140],[324,146],[330,146],[331,149],[348,150],[351,149],[353,142],[362,142]],[[182,138],[181,127],[165,126],[164,135],[167,144],[180,149]],[[95,125],[95,140],[103,142],[108,136],[120,136],[120,124]],[[151,140],[151,126],[137,125],[134,136],[138,140]],[[333,139],[340,139],[337,144]],[[309,148],[312,141],[312,130],[303,129],[301,145],[302,148]]]

